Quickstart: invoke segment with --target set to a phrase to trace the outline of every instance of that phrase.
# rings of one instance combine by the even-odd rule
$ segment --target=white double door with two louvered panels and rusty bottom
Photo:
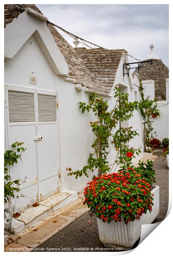
[[[22,161],[9,168],[12,180],[27,177],[21,185],[24,197],[11,200],[13,213],[58,190],[56,102],[56,93],[7,89],[8,145],[18,141],[27,148]]]

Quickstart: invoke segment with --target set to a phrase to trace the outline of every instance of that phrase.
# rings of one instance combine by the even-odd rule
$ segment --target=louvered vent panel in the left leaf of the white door
[[[35,121],[34,93],[8,90],[9,122]]]

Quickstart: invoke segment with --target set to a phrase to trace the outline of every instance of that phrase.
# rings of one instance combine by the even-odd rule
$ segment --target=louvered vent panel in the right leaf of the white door
[[[38,121],[56,121],[56,96],[38,93]]]

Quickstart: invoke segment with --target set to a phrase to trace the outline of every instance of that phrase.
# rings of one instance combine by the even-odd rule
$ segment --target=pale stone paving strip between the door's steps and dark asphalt
[[[25,249],[27,248],[26,251],[30,251],[30,248],[35,248],[42,244],[58,231],[69,225],[76,218],[79,218],[86,213],[88,208],[86,205],[83,205],[84,197],[82,196],[82,193],[78,194],[78,200],[50,213],[45,218],[37,220],[33,225],[26,227],[21,232],[6,238],[5,250],[10,246],[12,248],[19,248],[20,245]]]

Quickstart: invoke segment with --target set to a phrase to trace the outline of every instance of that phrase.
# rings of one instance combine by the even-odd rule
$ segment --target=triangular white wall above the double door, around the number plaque
[[[30,83],[29,76],[37,78],[36,85]],[[5,62],[5,84],[56,90],[55,74],[37,44],[35,34]]]

